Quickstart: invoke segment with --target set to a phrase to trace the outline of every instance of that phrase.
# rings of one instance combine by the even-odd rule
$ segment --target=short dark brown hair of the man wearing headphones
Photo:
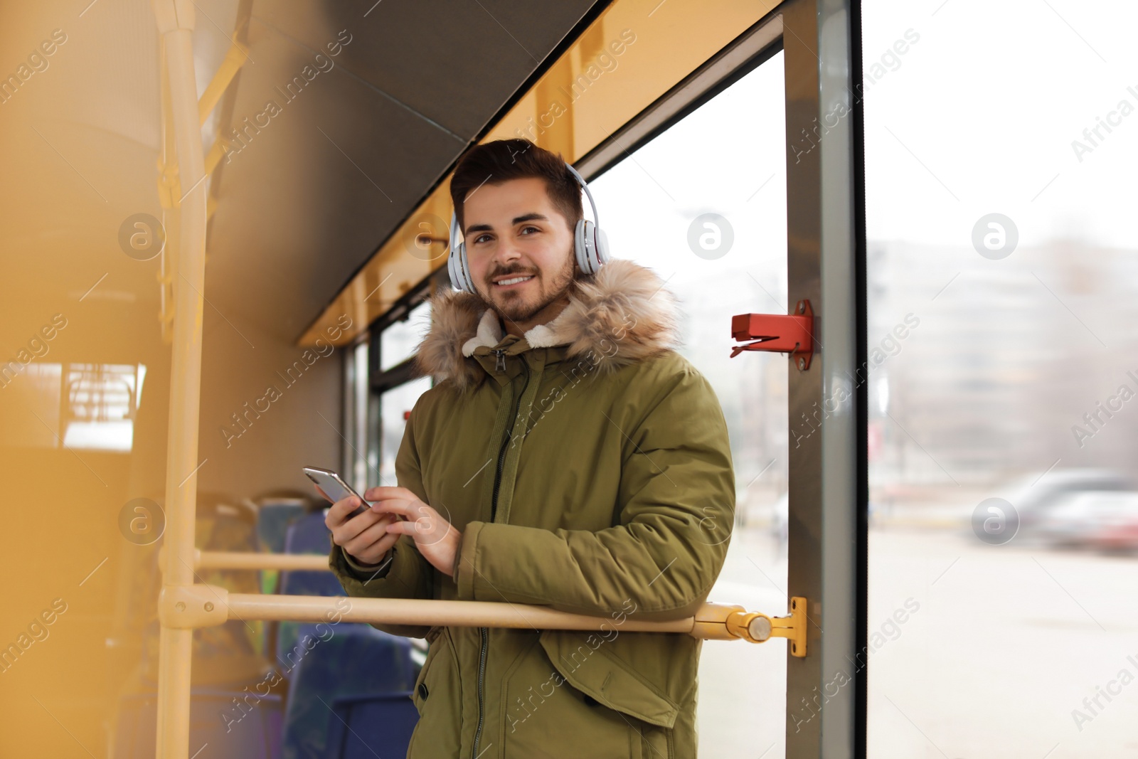
[[[580,184],[566,167],[560,152],[551,152],[520,138],[476,145],[459,160],[451,178],[451,201],[459,215],[459,226],[465,228],[462,204],[470,192],[483,184],[501,184],[534,176],[545,180],[545,191],[553,207],[566,217],[572,230],[577,221],[585,217]]]

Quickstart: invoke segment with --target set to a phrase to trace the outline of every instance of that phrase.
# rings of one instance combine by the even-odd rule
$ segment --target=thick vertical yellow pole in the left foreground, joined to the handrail
[[[174,278],[174,340],[166,448],[166,531],[163,584],[193,583],[201,316],[205,291],[206,187],[193,76],[192,0],[154,0],[163,35],[182,192]],[[190,644],[193,630],[163,626],[158,643],[157,757],[187,759],[190,732]]]

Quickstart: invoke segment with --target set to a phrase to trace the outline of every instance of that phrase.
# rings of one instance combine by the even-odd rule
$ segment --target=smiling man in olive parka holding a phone
[[[735,486],[723,411],[678,353],[670,292],[613,259],[577,270],[580,185],[527,140],[472,148],[451,181],[477,295],[431,300],[435,387],[399,487],[327,523],[348,595],[546,604],[596,633],[377,625],[430,642],[409,757],[696,756],[701,642],[632,633],[688,617],[723,567]]]

